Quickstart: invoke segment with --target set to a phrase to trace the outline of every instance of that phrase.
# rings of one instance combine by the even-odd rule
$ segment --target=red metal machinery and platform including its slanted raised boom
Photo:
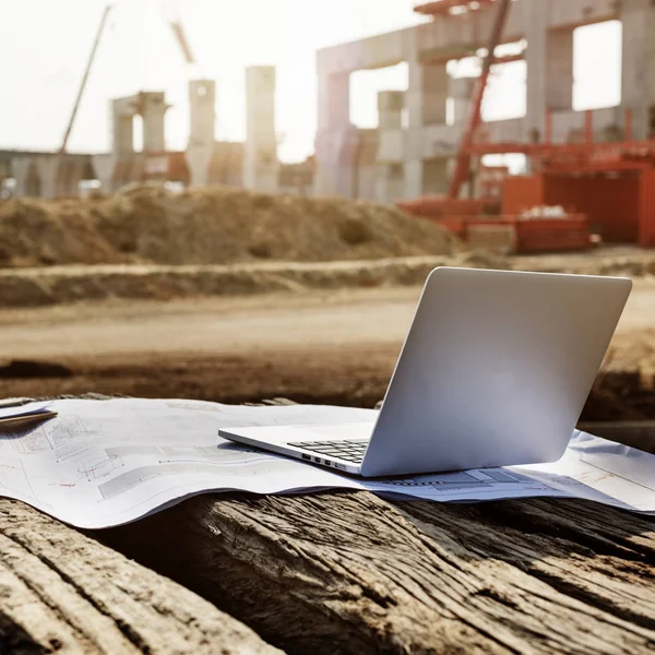
[[[472,7],[471,2],[442,0],[424,4],[417,11],[455,13],[456,7],[462,11],[474,11],[491,2],[493,0]],[[500,44],[511,0],[496,0],[495,4],[496,21],[471,102],[449,193],[403,201],[397,203],[398,206],[436,221],[464,239],[480,226],[489,229],[510,227],[516,252],[590,248],[592,233],[605,241],[655,248],[655,139],[633,140],[630,110],[626,111],[622,140],[595,143],[593,112],[587,111],[583,129],[572,135],[572,142],[553,143],[550,110],[547,110],[540,143],[476,140],[491,66],[502,62],[495,58],[495,49]],[[493,179],[485,182],[480,176],[480,198],[458,198],[474,157],[507,153],[526,155],[533,175],[508,176],[498,187]],[[484,172],[485,168],[479,171]],[[495,188],[496,191],[490,193],[489,190]],[[553,205],[561,207],[557,217],[545,211],[533,211]]]

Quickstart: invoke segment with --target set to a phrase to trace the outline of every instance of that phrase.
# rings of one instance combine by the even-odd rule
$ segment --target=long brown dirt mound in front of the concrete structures
[[[0,266],[227,264],[452,254],[456,239],[393,207],[241,189],[129,187],[110,196],[0,204]]]

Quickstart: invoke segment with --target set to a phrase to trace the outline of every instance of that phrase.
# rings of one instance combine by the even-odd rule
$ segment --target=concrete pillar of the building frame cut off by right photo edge
[[[621,5],[622,105],[632,109],[632,134],[655,133],[655,7],[651,0],[623,0]]]

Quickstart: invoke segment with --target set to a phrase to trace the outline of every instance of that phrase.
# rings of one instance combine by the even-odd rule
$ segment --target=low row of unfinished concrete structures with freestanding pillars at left
[[[157,180],[180,186],[228,184],[277,192],[284,174],[286,190],[311,193],[307,169],[301,181],[281,166],[275,133],[275,69],[246,71],[248,107],[243,143],[217,141],[216,84],[189,82],[190,129],[187,148],[166,148],[164,92],[141,92],[111,100],[111,151],[105,154],[57,154],[0,151],[0,198],[78,195],[81,182],[95,181],[104,192],[132,182]],[[143,121],[143,145],[134,144],[134,119]],[[297,175],[295,176],[297,177]]]

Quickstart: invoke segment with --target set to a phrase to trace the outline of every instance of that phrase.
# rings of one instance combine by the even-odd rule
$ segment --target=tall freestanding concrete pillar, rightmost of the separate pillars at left
[[[275,134],[275,68],[246,69],[246,153],[243,184],[275,193],[278,188]]]

